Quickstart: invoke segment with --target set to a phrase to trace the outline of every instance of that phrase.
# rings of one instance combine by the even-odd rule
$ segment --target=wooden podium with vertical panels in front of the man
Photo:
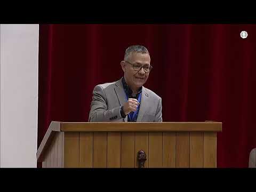
[[[217,167],[220,122],[51,122],[37,150],[43,167]]]

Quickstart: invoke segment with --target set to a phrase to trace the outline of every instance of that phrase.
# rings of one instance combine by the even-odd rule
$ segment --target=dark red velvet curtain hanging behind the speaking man
[[[93,87],[121,78],[126,47],[141,44],[163,121],[222,122],[217,166],[247,167],[256,147],[255,34],[256,25],[40,25],[38,146],[51,121],[87,122]]]

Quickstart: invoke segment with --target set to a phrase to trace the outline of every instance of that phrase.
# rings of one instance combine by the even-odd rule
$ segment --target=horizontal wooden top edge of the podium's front
[[[220,132],[220,122],[86,122],[61,123],[61,131],[71,132]]]

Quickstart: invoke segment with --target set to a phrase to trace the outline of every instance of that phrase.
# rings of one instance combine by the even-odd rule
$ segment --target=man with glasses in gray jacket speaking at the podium
[[[121,67],[121,79],[94,87],[89,122],[162,122],[162,98],[143,86],[153,68],[147,48],[128,47]]]

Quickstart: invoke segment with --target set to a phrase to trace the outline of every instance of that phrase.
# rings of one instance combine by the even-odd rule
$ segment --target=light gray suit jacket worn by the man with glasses
[[[120,114],[125,103],[121,79],[94,87],[89,122],[127,122]],[[143,86],[137,122],[162,122],[161,97]]]

